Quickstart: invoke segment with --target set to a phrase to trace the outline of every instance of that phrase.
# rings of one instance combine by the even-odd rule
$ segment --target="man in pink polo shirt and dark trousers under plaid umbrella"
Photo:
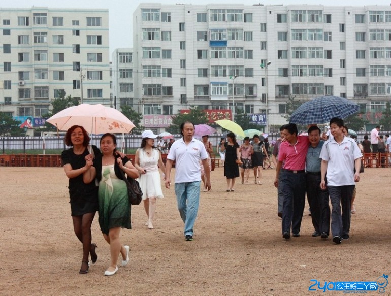
[[[290,228],[294,237],[300,237],[300,226],[306,196],[305,164],[309,141],[307,136],[298,137],[296,124],[289,123],[283,129],[285,142],[281,143],[278,153],[274,186],[282,184],[284,202],[282,206],[282,237],[290,239]],[[284,162],[284,167],[282,167]],[[278,175],[281,171],[280,180]]]

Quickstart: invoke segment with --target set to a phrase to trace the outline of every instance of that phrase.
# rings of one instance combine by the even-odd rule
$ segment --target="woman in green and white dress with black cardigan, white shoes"
[[[131,229],[131,205],[127,195],[126,183],[120,170],[131,178],[138,178],[139,172],[127,157],[115,153],[116,138],[113,134],[101,137],[100,148],[102,155],[92,161],[86,156],[90,169],[84,173],[84,182],[91,182],[95,177],[99,181],[99,225],[103,237],[110,244],[111,264],[105,271],[106,276],[114,275],[118,271],[117,260],[121,253],[121,266],[129,262],[129,246],[120,242],[121,228]]]

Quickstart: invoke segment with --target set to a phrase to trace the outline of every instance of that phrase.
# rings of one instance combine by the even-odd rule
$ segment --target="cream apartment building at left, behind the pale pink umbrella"
[[[0,26],[0,112],[40,118],[64,95],[110,104],[107,9],[0,8]]]

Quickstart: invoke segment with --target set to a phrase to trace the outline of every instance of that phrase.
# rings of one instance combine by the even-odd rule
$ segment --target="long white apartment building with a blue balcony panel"
[[[267,115],[268,131],[286,123],[289,97],[343,96],[372,124],[390,99],[389,6],[140,4],[133,30],[144,115],[234,105]]]

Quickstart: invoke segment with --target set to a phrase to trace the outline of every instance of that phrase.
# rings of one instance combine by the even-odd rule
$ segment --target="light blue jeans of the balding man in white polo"
[[[185,223],[185,236],[193,235],[193,226],[196,222],[198,206],[200,204],[201,181],[175,183],[175,195],[179,214]]]

